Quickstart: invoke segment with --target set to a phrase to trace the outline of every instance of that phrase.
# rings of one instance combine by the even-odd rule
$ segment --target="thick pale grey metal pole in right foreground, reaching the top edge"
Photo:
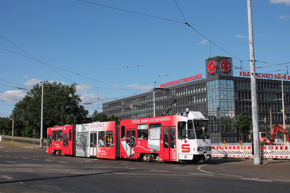
[[[249,22],[249,47],[250,47],[250,68],[251,68],[251,95],[252,95],[252,118],[253,118],[253,142],[254,142],[254,164],[261,164],[261,154],[259,146],[259,128],[258,128],[258,107],[256,90],[256,70],[254,54],[254,38],[252,23],[251,0],[248,0],[248,22]]]

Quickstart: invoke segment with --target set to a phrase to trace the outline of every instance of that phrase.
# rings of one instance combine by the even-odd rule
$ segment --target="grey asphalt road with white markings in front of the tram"
[[[287,192],[290,160],[265,162],[148,163],[0,145],[0,192]]]

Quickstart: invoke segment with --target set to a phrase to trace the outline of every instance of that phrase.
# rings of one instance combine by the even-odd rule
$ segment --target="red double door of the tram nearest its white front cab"
[[[175,127],[163,128],[163,159],[176,160]]]

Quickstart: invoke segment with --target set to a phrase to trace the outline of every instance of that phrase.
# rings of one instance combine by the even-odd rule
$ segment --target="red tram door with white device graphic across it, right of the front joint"
[[[126,158],[136,158],[136,129],[126,129],[126,140],[121,143],[126,151]]]

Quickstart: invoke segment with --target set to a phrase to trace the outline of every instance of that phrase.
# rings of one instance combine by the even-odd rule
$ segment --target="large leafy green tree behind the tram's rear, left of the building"
[[[15,104],[14,135],[32,137],[33,130],[40,137],[41,125],[41,87],[34,85],[26,96]],[[76,94],[76,87],[50,82],[44,85],[43,133],[46,138],[48,127],[55,125],[80,124],[88,110],[84,109],[80,96]]]

